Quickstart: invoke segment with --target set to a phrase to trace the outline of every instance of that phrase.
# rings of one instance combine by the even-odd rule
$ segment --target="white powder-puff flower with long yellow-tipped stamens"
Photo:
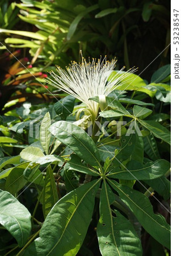
[[[123,67],[119,72],[111,75],[111,72],[116,67],[116,59],[108,61],[106,56],[103,60],[92,58],[92,61],[86,61],[82,57],[82,63],[71,61],[66,71],[57,66],[59,75],[53,71],[49,72],[54,80],[49,77],[45,79],[48,84],[63,90],[64,92],[78,98],[87,106],[88,112],[93,115],[93,119],[98,115],[99,104],[89,98],[95,96],[108,96],[113,90],[121,85],[121,80],[129,76],[129,72],[134,72],[135,69],[130,69],[128,72],[122,72]],[[120,76],[120,74],[122,74]],[[110,76],[111,75],[111,76]],[[124,82],[123,82],[124,83]],[[122,84],[123,84],[122,83]]]

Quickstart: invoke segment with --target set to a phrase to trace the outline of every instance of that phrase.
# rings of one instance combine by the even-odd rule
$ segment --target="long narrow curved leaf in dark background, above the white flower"
[[[77,17],[73,20],[73,22],[70,24],[70,28],[69,28],[69,32],[67,35],[67,39],[70,40],[71,37],[73,36],[75,30],[77,29],[77,26],[79,24],[79,22],[81,21],[81,19],[88,13],[90,13],[91,11],[94,11],[96,9],[98,9],[99,6],[98,5],[92,5],[90,7],[87,7],[86,10],[82,11],[82,13],[78,14]]]

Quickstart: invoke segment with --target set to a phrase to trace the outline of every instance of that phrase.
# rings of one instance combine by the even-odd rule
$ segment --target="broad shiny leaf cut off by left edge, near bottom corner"
[[[0,223],[22,247],[31,232],[31,214],[7,191],[0,189]]]

